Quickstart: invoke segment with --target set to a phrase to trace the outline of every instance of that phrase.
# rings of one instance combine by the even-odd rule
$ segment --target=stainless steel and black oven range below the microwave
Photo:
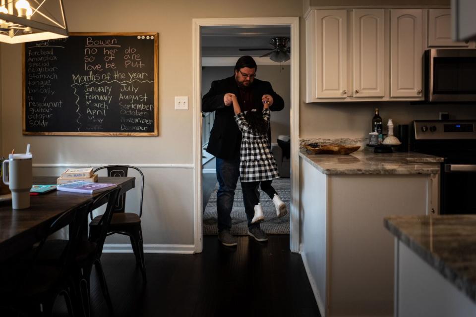
[[[412,151],[443,158],[441,214],[476,214],[476,120],[416,120]]]

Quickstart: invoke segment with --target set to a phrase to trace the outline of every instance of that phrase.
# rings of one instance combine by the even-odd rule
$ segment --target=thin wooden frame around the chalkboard
[[[154,132],[32,132],[26,131],[26,63],[25,44],[22,45],[22,130],[24,135],[68,136],[158,136],[159,133],[159,34],[153,32],[71,32],[69,36],[154,36]]]

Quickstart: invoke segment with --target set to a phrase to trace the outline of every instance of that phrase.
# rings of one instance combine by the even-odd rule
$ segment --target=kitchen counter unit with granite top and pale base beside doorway
[[[299,153],[300,251],[322,316],[393,316],[389,215],[438,212],[441,158]]]

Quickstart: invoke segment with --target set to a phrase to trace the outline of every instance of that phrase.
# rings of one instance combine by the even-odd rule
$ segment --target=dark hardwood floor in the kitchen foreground
[[[237,248],[205,236],[201,254],[146,254],[146,285],[132,254],[105,253],[101,261],[114,305],[110,316],[320,317],[289,235],[271,235],[267,243],[239,236]],[[94,272],[91,279],[92,316],[107,316]],[[57,302],[56,316],[67,316],[62,298]]]

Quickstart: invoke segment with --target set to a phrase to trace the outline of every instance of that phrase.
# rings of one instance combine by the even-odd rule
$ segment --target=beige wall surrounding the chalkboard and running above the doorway
[[[194,244],[192,107],[199,105],[190,105],[188,111],[174,110],[175,96],[192,94],[192,19],[299,16],[302,2],[63,0],[63,3],[70,32],[159,33],[159,136],[23,136],[21,46],[2,45],[2,152],[23,149],[31,143],[34,164],[146,164],[149,167],[144,168],[147,183],[142,218],[144,243]],[[45,167],[37,168],[34,173],[58,175],[59,170]],[[124,241],[111,238],[109,242]]]

